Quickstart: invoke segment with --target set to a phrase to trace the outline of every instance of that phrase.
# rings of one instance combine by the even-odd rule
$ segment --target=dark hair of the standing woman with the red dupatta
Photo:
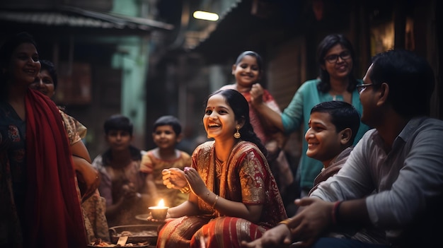
[[[8,92],[8,73],[4,73],[2,69],[6,69],[11,62],[12,53],[14,50],[23,43],[30,43],[37,49],[37,43],[32,35],[26,32],[18,33],[10,37],[0,47],[0,94],[4,97],[4,94]]]

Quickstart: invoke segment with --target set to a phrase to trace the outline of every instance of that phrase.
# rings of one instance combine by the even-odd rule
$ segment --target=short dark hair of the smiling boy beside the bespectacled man
[[[330,122],[334,124],[337,133],[343,129],[350,128],[352,136],[349,143],[354,143],[360,126],[360,115],[354,106],[342,101],[321,102],[313,106],[311,114],[315,112],[330,114]]]

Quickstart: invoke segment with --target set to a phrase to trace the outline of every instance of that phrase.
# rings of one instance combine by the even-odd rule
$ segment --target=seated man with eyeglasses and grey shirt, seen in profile
[[[296,201],[297,215],[245,247],[442,247],[443,122],[429,117],[434,73],[413,52],[391,50],[373,58],[363,81],[361,119],[374,129],[337,175]],[[328,237],[340,228],[357,234]],[[363,228],[379,230],[384,242],[360,240]]]

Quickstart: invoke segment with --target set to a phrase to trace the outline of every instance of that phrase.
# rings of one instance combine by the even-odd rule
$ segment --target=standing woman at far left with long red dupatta
[[[0,68],[0,247],[86,247],[62,117],[28,89],[40,71],[33,37],[6,41]]]

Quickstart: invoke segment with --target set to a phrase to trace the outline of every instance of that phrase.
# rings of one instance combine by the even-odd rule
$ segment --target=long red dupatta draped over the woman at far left
[[[28,90],[26,105],[25,244],[86,247],[71,150],[62,117],[52,100]]]

